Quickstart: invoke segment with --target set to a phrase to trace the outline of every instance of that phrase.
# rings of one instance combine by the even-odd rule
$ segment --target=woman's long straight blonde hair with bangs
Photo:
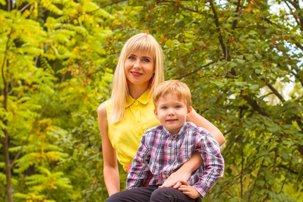
[[[154,80],[151,86],[151,94],[160,83],[164,81],[164,55],[159,43],[151,34],[138,33],[131,37],[123,46],[119,61],[114,73],[112,84],[112,111],[108,117],[111,124],[115,124],[124,117],[125,107],[128,97],[128,88],[126,86],[126,76],[124,70],[124,62],[128,55],[136,51],[151,53],[154,59]],[[150,85],[152,83],[152,78]]]

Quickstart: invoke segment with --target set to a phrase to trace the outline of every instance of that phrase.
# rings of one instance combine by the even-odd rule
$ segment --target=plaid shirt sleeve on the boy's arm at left
[[[146,143],[148,133],[145,133],[139,148],[132,160],[132,167],[127,175],[126,189],[143,186],[149,174],[150,152]]]

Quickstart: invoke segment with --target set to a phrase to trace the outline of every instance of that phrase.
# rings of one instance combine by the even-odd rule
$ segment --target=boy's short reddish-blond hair
[[[192,95],[188,86],[179,80],[167,80],[161,83],[152,94],[152,101],[155,109],[157,109],[158,100],[167,94],[174,94],[179,100],[186,104],[187,109],[192,105]]]

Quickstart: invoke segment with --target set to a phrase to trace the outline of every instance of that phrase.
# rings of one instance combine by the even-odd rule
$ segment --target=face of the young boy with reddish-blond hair
[[[191,107],[187,109],[186,104],[182,100],[170,93],[164,97],[159,97],[157,109],[154,109],[154,113],[160,123],[171,134],[177,134],[191,110]]]

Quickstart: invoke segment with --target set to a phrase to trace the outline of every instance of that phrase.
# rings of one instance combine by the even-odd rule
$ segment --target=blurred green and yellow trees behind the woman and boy
[[[125,41],[224,133],[203,202],[303,202],[301,0],[0,0],[0,200],[104,202],[96,109]],[[121,169],[121,189],[126,173]]]

